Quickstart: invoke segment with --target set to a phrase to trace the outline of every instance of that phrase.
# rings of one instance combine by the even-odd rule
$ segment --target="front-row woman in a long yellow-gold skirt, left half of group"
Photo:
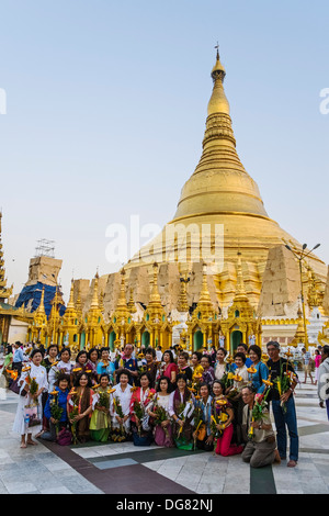
[[[106,442],[111,431],[110,416],[110,378],[105,372],[101,374],[100,386],[93,388],[92,397],[92,416],[90,419],[90,437],[91,440],[98,442]]]

